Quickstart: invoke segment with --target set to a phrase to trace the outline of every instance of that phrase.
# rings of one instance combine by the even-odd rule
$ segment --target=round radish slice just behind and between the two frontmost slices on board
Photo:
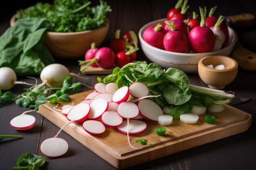
[[[101,121],[104,125],[115,128],[122,124],[123,118],[115,111],[106,111],[102,114]]]

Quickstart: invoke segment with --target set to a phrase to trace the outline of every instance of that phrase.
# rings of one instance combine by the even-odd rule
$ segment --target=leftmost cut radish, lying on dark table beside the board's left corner
[[[18,130],[28,130],[35,126],[36,118],[32,115],[19,115],[11,119],[11,127]]]

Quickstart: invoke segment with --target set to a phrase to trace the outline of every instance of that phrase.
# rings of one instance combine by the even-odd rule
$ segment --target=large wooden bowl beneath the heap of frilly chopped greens
[[[18,13],[12,16],[11,26],[14,25],[17,15]],[[86,51],[91,48],[92,42],[95,42],[96,48],[99,47],[108,33],[108,28],[109,22],[104,27],[88,31],[73,33],[48,31],[45,35],[45,43],[54,57],[76,59],[85,55]]]

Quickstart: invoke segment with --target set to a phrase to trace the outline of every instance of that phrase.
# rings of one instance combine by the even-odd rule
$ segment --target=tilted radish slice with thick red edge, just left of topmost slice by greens
[[[113,94],[112,101],[120,104],[121,102],[126,102],[129,96],[130,93],[128,86],[123,86]]]

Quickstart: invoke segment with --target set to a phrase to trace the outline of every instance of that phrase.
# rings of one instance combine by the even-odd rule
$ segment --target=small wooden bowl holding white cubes
[[[229,67],[225,70],[216,70],[208,68],[207,65],[213,65],[213,67],[223,64]],[[237,75],[238,63],[231,57],[222,55],[211,55],[204,57],[198,62],[198,74],[205,84],[208,84],[210,88],[222,89],[226,85],[230,84]]]

